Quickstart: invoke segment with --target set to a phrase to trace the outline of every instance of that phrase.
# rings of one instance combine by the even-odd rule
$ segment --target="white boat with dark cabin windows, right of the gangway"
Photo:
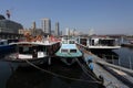
[[[88,42],[88,47],[91,51],[101,50],[101,51],[111,51],[121,48],[121,45],[116,43],[115,38],[111,37],[90,37]]]

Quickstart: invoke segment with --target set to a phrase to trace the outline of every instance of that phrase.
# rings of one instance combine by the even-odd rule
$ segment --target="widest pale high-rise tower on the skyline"
[[[47,34],[51,34],[51,20],[45,18],[42,19],[42,31]]]

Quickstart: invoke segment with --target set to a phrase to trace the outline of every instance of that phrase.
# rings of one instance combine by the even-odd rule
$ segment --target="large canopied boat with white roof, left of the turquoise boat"
[[[4,59],[20,66],[29,66],[28,62],[35,65],[47,63],[60,47],[60,42],[33,40],[11,43],[11,45],[16,46],[16,53],[7,55]]]

